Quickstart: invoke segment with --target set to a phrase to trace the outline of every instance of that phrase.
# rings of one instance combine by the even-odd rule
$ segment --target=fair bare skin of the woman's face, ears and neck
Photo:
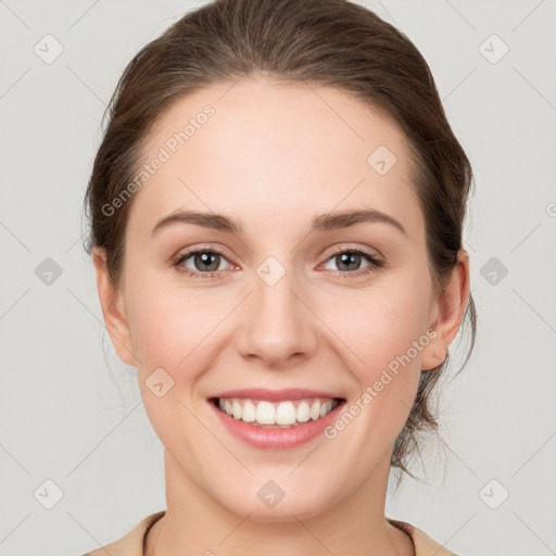
[[[197,91],[163,114],[144,161],[207,103],[215,115],[136,193],[117,286],[102,249],[93,251],[106,328],[119,358],[137,367],[165,448],[167,509],[146,554],[410,555],[410,539],[384,517],[390,457],[421,370],[444,359],[460,326],[467,254],[435,296],[406,138],[338,89],[257,76]],[[386,175],[367,163],[381,144],[397,159]],[[308,233],[316,215],[362,207],[406,233],[386,223]],[[177,224],[151,237],[176,210],[232,216],[243,235]],[[223,253],[219,276],[173,266],[197,247]],[[384,266],[361,275],[370,264],[362,257],[346,269],[339,248],[380,254]],[[256,274],[268,256],[286,270],[274,286]],[[194,257],[181,267],[207,274]],[[230,437],[208,406],[218,391],[251,387],[326,390],[349,407],[431,329],[435,338],[333,440],[257,450]],[[174,380],[162,397],[146,386],[159,367]],[[286,493],[273,508],[256,495],[268,480]]]

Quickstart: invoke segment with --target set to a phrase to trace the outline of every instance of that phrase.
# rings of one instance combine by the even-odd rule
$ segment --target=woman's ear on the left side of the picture
[[[131,350],[131,334],[125,316],[124,296],[118,287],[112,283],[106,267],[106,252],[103,248],[92,248],[92,261],[97,271],[97,290],[104,324],[117,356],[127,365],[136,366]]]

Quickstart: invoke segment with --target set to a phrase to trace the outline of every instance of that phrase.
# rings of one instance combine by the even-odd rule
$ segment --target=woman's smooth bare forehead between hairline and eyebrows
[[[365,205],[420,227],[404,134],[332,87],[260,77],[198,90],[163,112],[142,164],[142,222],[192,207],[280,226]]]

